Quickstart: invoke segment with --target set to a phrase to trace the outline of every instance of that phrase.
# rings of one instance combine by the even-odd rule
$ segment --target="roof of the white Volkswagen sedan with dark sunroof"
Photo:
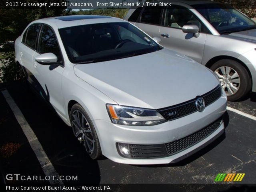
[[[110,23],[110,22],[126,22],[125,20],[100,15],[71,15],[71,16],[58,16],[49,17],[33,21],[33,23],[44,23],[52,26],[53,28],[66,28],[71,26],[79,26],[86,24],[96,23]]]

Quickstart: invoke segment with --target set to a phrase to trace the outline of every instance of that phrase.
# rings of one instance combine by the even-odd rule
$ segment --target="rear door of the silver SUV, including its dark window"
[[[162,20],[162,9],[161,8],[152,8],[152,7],[145,7],[140,16],[138,21],[135,25],[146,32],[148,35],[153,37],[159,36],[160,24]]]

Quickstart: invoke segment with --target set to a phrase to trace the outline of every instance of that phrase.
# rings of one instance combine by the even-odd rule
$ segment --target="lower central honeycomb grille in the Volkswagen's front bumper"
[[[200,142],[201,140],[212,134],[212,132],[214,132],[220,126],[221,121],[222,118],[219,118],[210,125],[206,126],[205,128],[202,128],[197,132],[194,132],[189,136],[165,144],[168,154],[174,155]]]

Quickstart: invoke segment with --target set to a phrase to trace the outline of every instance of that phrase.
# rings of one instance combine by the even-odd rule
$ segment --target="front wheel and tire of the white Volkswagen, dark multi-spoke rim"
[[[72,106],[69,116],[73,133],[80,143],[84,145],[87,154],[92,159],[100,158],[100,156],[102,156],[100,142],[92,120],[87,112],[80,104],[76,103]],[[78,125],[79,123],[80,125]],[[93,142],[91,140],[93,140]]]

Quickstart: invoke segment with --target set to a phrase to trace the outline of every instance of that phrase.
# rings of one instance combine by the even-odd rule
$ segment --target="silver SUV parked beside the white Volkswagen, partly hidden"
[[[228,100],[256,92],[256,23],[216,2],[171,1],[171,5],[130,9],[124,19],[161,38],[162,46],[213,70]]]

